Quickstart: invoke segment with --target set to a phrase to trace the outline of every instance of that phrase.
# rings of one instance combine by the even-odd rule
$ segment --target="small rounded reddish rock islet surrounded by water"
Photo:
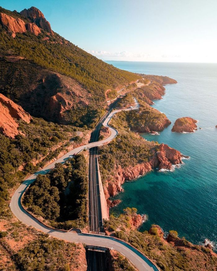
[[[179,118],[175,121],[172,132],[194,133],[194,131],[197,130],[196,123],[197,120],[194,120],[190,117]]]

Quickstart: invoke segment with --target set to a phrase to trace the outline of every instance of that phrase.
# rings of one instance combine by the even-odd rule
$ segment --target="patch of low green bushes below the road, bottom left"
[[[81,247],[48,235],[40,235],[14,255],[17,267],[23,271],[75,270],[82,261]],[[80,256],[80,259],[79,259]]]

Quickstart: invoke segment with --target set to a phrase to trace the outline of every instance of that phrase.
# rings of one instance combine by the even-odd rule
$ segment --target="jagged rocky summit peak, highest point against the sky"
[[[53,31],[51,29],[50,23],[45,19],[44,14],[36,7],[30,7],[20,11],[20,15],[29,18],[34,22],[38,27],[47,30],[52,36]]]

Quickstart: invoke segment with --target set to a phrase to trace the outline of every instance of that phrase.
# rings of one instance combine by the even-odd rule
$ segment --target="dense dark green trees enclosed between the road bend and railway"
[[[38,175],[23,203],[31,212],[61,229],[84,228],[87,216],[88,177],[84,155],[76,155],[47,175]]]

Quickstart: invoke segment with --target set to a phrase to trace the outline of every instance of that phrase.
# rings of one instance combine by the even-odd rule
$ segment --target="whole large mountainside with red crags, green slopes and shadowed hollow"
[[[49,25],[34,7],[20,14],[0,8],[0,92],[33,116],[77,126],[89,124],[90,120],[81,120],[87,114],[84,107],[92,116],[100,114],[99,108],[106,107],[107,89],[116,91],[141,76],[97,59]],[[37,32],[31,30],[36,27]]]

